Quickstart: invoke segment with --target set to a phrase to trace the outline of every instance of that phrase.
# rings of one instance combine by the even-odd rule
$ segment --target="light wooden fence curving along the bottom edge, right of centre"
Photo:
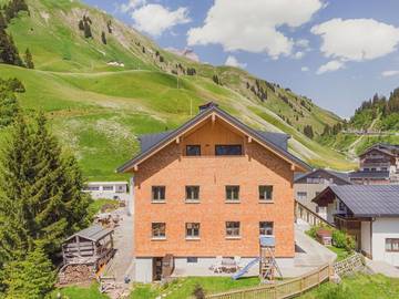
[[[325,265],[301,277],[275,285],[206,296],[206,299],[284,299],[300,295],[329,279],[330,266]]]

